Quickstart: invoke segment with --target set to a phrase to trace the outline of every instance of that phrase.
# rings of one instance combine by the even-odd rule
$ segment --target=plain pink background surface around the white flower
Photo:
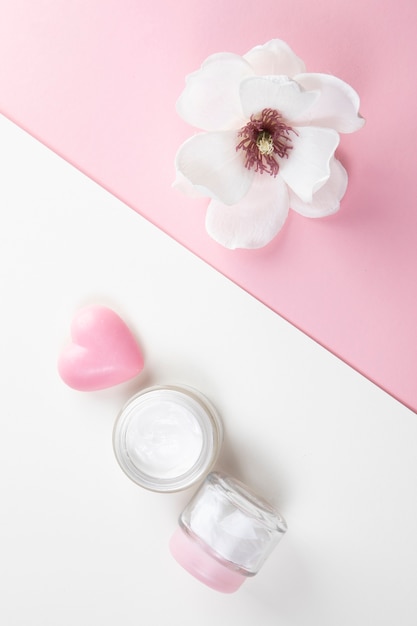
[[[193,132],[175,101],[207,55],[274,37],[349,82],[367,124],[342,136],[338,214],[232,252],[171,188]],[[2,113],[415,411],[416,56],[415,0],[0,0]]]

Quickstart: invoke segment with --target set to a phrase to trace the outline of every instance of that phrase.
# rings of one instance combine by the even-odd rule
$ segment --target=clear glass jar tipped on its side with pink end
[[[198,580],[232,593],[259,571],[286,530],[283,517],[266,501],[212,472],[180,515],[170,549]]]

